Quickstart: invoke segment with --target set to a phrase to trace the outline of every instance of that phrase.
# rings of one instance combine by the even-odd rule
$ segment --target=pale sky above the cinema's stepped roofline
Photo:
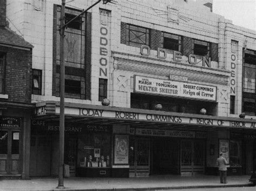
[[[213,0],[213,12],[256,31],[256,0]]]

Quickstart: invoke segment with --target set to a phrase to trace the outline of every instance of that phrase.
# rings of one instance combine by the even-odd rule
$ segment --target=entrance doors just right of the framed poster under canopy
[[[130,138],[129,141],[130,176],[148,176],[150,172],[150,140]]]

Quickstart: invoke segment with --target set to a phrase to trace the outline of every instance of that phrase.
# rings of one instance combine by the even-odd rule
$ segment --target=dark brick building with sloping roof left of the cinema
[[[23,176],[29,166],[32,45],[8,27],[0,2],[0,176]]]

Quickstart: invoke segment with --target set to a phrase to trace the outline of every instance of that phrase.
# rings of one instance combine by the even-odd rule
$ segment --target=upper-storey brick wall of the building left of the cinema
[[[5,94],[8,94],[8,101],[31,103],[32,51],[9,47],[5,69]]]

